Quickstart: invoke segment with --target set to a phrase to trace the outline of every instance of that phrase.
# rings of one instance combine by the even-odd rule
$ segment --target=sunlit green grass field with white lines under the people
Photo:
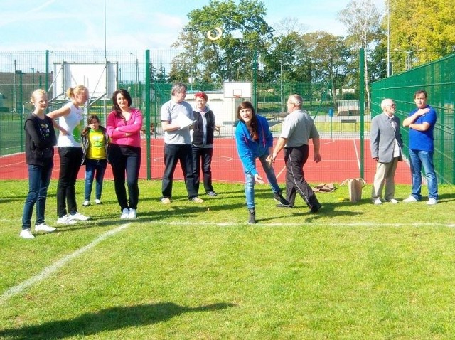
[[[0,185],[0,339],[454,338],[453,186],[436,206],[374,206],[370,186],[354,204],[337,185],[318,214],[257,186],[247,225],[242,185],[196,204],[176,182],[164,206],[161,182],[141,181],[139,218],[122,221],[107,181],[80,208],[92,221],[23,240],[27,183]]]

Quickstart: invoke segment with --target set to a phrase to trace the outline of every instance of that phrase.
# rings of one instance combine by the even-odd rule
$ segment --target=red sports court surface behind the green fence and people
[[[163,164],[163,139],[151,139],[151,159],[150,170],[152,179],[161,179],[164,170]],[[322,161],[318,164],[313,161],[313,150],[310,145],[309,161],[304,166],[306,181],[313,184],[320,183],[341,183],[348,178],[360,177],[360,140],[359,139],[321,139]],[[371,159],[370,141],[365,140],[364,150],[364,179],[368,184],[373,181],[376,163]],[[274,164],[275,173],[280,183],[284,183],[285,166],[282,152],[279,154]],[[53,179],[58,179],[59,159],[58,152],[55,150],[55,164],[53,169]],[[235,140],[231,138],[215,139],[213,161],[212,161],[213,181],[242,183],[244,174],[242,164],[237,156]],[[79,173],[80,179],[84,178],[85,170],[83,167]],[[264,174],[260,169],[259,174]],[[147,157],[146,141],[142,147],[141,179],[147,178]],[[0,179],[27,179],[28,171],[25,163],[25,155],[14,154],[0,158]],[[175,179],[183,179],[180,166],[177,166]],[[105,179],[112,179],[110,166],[105,174]],[[410,184],[410,168],[405,161],[399,163],[395,174],[395,183]]]

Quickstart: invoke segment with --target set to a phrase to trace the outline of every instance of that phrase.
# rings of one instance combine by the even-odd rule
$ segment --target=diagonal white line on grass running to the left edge
[[[73,260],[73,258],[75,258],[79,255],[82,255],[87,250],[94,248],[95,245],[100,243],[102,240],[105,240],[106,238],[109,238],[109,236],[112,236],[115,233],[118,233],[119,231],[121,231],[125,228],[128,228],[128,227],[129,227],[129,224],[124,224],[124,225],[120,225],[118,228],[109,230],[107,233],[102,234],[99,238],[92,241],[92,243],[85,245],[84,247],[76,250],[72,254],[66,255],[58,262],[55,262],[53,265],[50,265],[49,267],[45,267],[44,270],[41,273],[39,273],[38,275],[35,275],[35,276],[31,277],[30,279],[23,281],[19,285],[16,285],[14,287],[11,287],[10,289],[7,289],[6,292],[4,292],[3,294],[0,295],[0,303],[5,302],[6,299],[9,299],[10,297],[12,297],[16,294],[19,294],[24,289],[31,287],[32,285],[35,285],[37,282],[44,280],[45,278],[49,277],[53,272],[55,272],[55,271],[59,270],[61,267],[63,267],[63,265],[65,265],[66,262],[69,262],[70,260]]]

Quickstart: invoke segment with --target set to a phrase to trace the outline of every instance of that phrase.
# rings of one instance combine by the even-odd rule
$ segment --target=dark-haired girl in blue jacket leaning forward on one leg
[[[263,184],[264,180],[256,169],[256,159],[262,164],[267,181],[274,194],[274,200],[288,206],[289,203],[282,196],[282,189],[278,186],[277,176],[269,161],[272,154],[273,136],[269,129],[267,119],[256,115],[251,102],[241,102],[237,107],[237,118],[239,124],[235,129],[235,142],[237,153],[242,161],[243,171],[245,171],[245,196],[247,198],[247,208],[250,213],[248,223],[256,223],[255,211],[255,183]]]

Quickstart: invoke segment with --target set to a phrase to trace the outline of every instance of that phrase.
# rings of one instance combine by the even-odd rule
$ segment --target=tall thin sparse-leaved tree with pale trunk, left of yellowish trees
[[[365,50],[365,88],[367,106],[370,106],[370,83],[368,82],[368,51],[378,38],[381,15],[372,0],[351,0],[345,9],[338,12],[338,19],[348,28],[355,45]]]

